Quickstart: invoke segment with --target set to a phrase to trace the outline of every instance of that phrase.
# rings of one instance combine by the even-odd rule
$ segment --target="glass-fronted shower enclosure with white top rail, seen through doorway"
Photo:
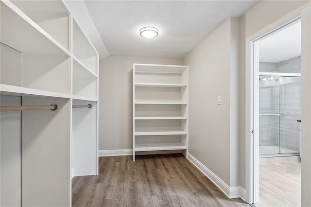
[[[259,156],[299,155],[299,73],[259,72]]]

